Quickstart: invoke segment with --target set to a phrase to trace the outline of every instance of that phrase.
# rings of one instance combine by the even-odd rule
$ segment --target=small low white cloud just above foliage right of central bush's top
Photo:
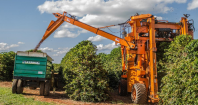
[[[111,44],[107,44],[107,45],[103,45],[103,44],[97,45],[98,51],[100,51],[100,50],[112,50],[112,49],[117,48],[117,47],[118,46],[115,44],[115,42],[113,42]]]

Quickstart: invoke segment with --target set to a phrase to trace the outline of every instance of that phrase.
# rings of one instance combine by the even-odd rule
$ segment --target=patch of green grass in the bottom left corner
[[[52,103],[25,98],[22,94],[12,94],[10,88],[0,87],[0,105],[53,105]]]

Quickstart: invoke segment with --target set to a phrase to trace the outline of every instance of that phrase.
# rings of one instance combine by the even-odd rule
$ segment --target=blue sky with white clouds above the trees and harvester
[[[196,29],[194,38],[198,39],[198,0],[1,0],[0,52],[33,49],[50,21],[56,20],[52,13],[63,11],[95,27],[125,22],[136,12],[150,13],[170,22],[179,22],[183,14],[190,14]],[[111,29],[119,31],[119,27]],[[113,41],[65,22],[40,49],[60,63],[70,48],[87,39],[98,46],[98,52],[109,53],[117,47]]]

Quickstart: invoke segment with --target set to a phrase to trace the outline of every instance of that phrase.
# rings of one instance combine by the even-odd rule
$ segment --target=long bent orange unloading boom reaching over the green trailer
[[[86,29],[90,32],[93,32],[97,35],[103,36],[107,39],[110,39],[112,41],[115,41],[116,43],[120,43],[123,46],[129,46],[130,48],[134,48],[135,45],[131,42],[126,41],[125,39],[122,39],[120,37],[117,37],[115,35],[112,35],[110,33],[107,33],[105,31],[100,30],[99,28],[95,28],[93,26],[87,25],[83,22],[80,22],[72,17],[68,17],[66,16],[66,12],[63,12],[63,14],[60,13],[53,13],[53,15],[58,18],[55,22],[52,20],[45,32],[45,34],[43,35],[43,38],[41,39],[41,41],[38,43],[38,45],[35,47],[34,51],[37,51],[37,49],[39,48],[39,46],[41,45],[41,43],[47,39],[64,21],[71,23],[73,25],[76,25],[78,27],[81,27],[83,29]]]

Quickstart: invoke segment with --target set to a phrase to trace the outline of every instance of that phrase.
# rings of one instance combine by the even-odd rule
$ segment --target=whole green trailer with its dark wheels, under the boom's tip
[[[40,87],[40,95],[49,95],[53,81],[53,59],[46,53],[18,51],[15,56],[12,93],[21,94],[23,87]]]

